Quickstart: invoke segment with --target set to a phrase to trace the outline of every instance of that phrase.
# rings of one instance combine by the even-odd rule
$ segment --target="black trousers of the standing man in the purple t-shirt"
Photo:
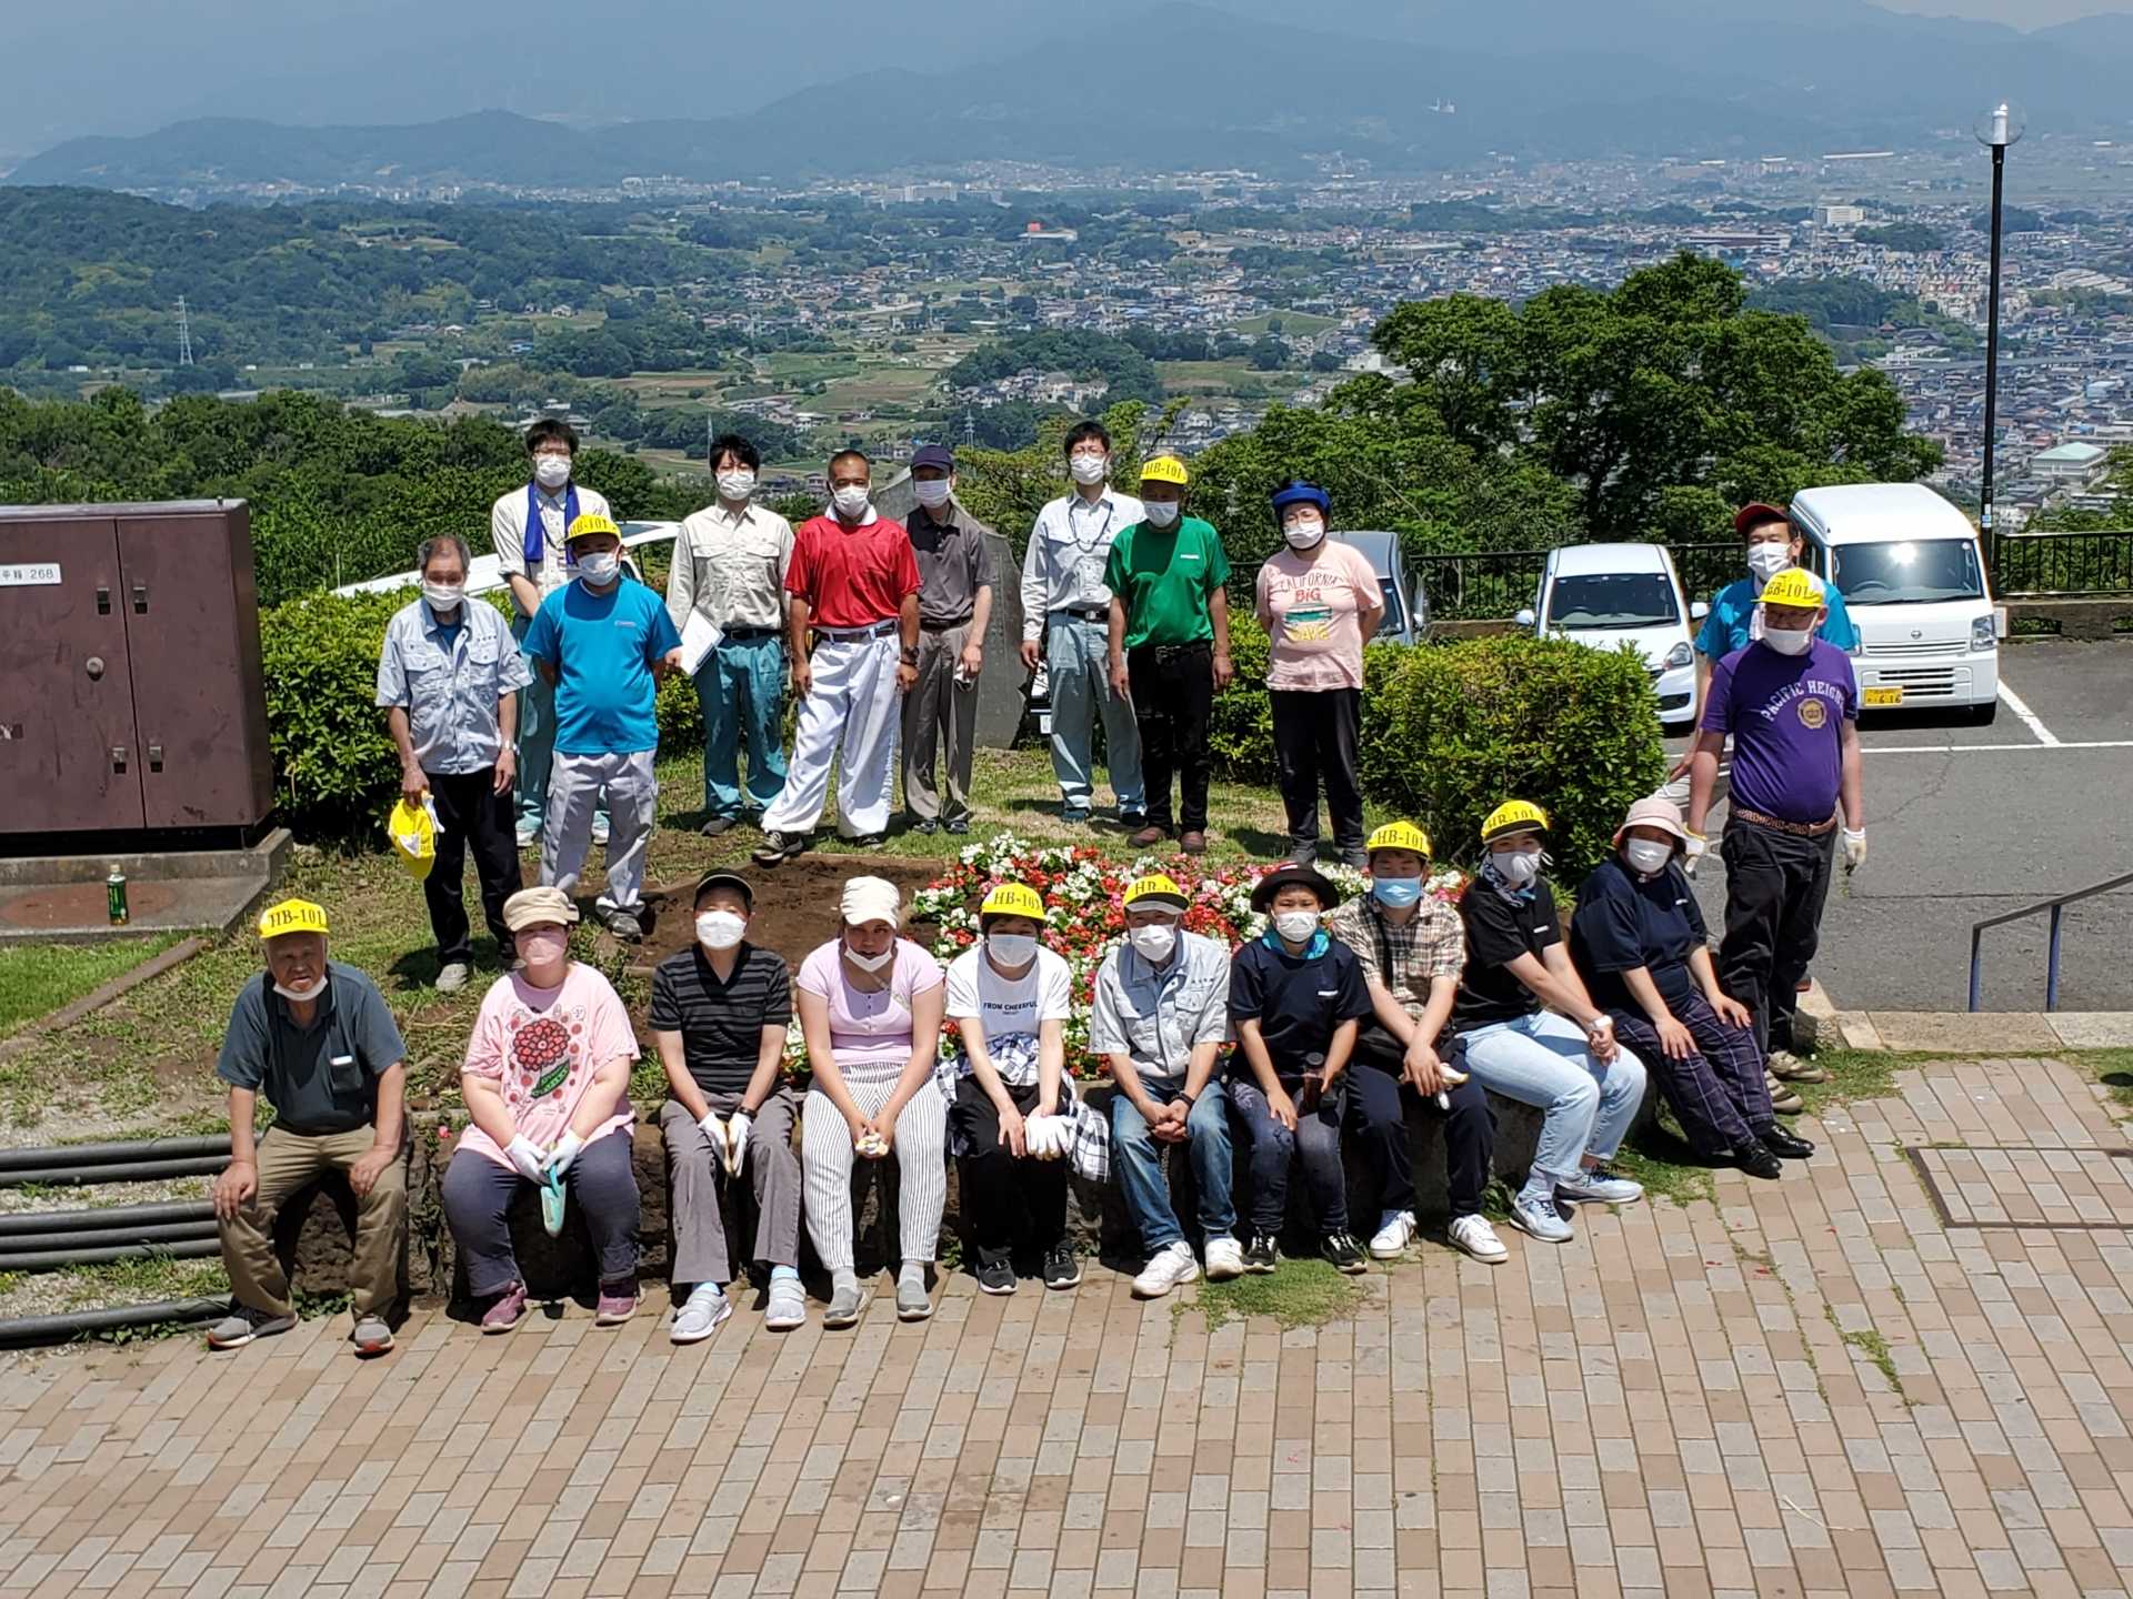
[[[1837,829],[1802,838],[1728,817],[1719,859],[1726,861],[1719,985],[1755,1013],[1755,1047],[1764,1055],[1792,1049],[1798,985],[1815,957],[1830,898]]]

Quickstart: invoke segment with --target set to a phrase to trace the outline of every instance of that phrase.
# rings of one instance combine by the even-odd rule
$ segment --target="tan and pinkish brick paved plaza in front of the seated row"
[[[2122,1595],[2124,1134],[2054,1062],[1898,1083],[1781,1183],[1431,1243],[1318,1330],[1092,1271],[689,1350],[572,1307],[0,1356],[0,1599]]]

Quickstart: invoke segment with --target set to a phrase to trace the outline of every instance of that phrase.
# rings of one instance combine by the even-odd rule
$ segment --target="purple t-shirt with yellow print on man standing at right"
[[[1704,731],[1732,733],[1734,808],[1826,823],[1837,814],[1843,725],[1858,714],[1851,657],[1834,644],[1815,640],[1807,655],[1779,655],[1758,642],[1719,661]]]

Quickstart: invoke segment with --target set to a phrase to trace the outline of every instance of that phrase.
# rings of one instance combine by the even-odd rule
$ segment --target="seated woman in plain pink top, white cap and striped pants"
[[[896,1151],[902,1177],[902,1271],[896,1313],[932,1315],[926,1271],[941,1243],[947,1205],[947,1100],[934,1087],[934,1053],[947,987],[941,962],[898,938],[900,895],[879,876],[855,876],[840,904],[838,936],[800,964],[793,998],[815,1081],[800,1117],[806,1230],[830,1269],[823,1326],[860,1320],[860,1275],[851,1254],[853,1156]]]

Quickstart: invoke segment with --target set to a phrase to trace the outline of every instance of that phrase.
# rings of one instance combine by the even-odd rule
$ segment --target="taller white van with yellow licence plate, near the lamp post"
[[[1839,484],[1792,497],[1807,565],[1837,584],[1860,633],[1860,704],[1999,710],[2005,616],[1971,518],[1924,484]]]

